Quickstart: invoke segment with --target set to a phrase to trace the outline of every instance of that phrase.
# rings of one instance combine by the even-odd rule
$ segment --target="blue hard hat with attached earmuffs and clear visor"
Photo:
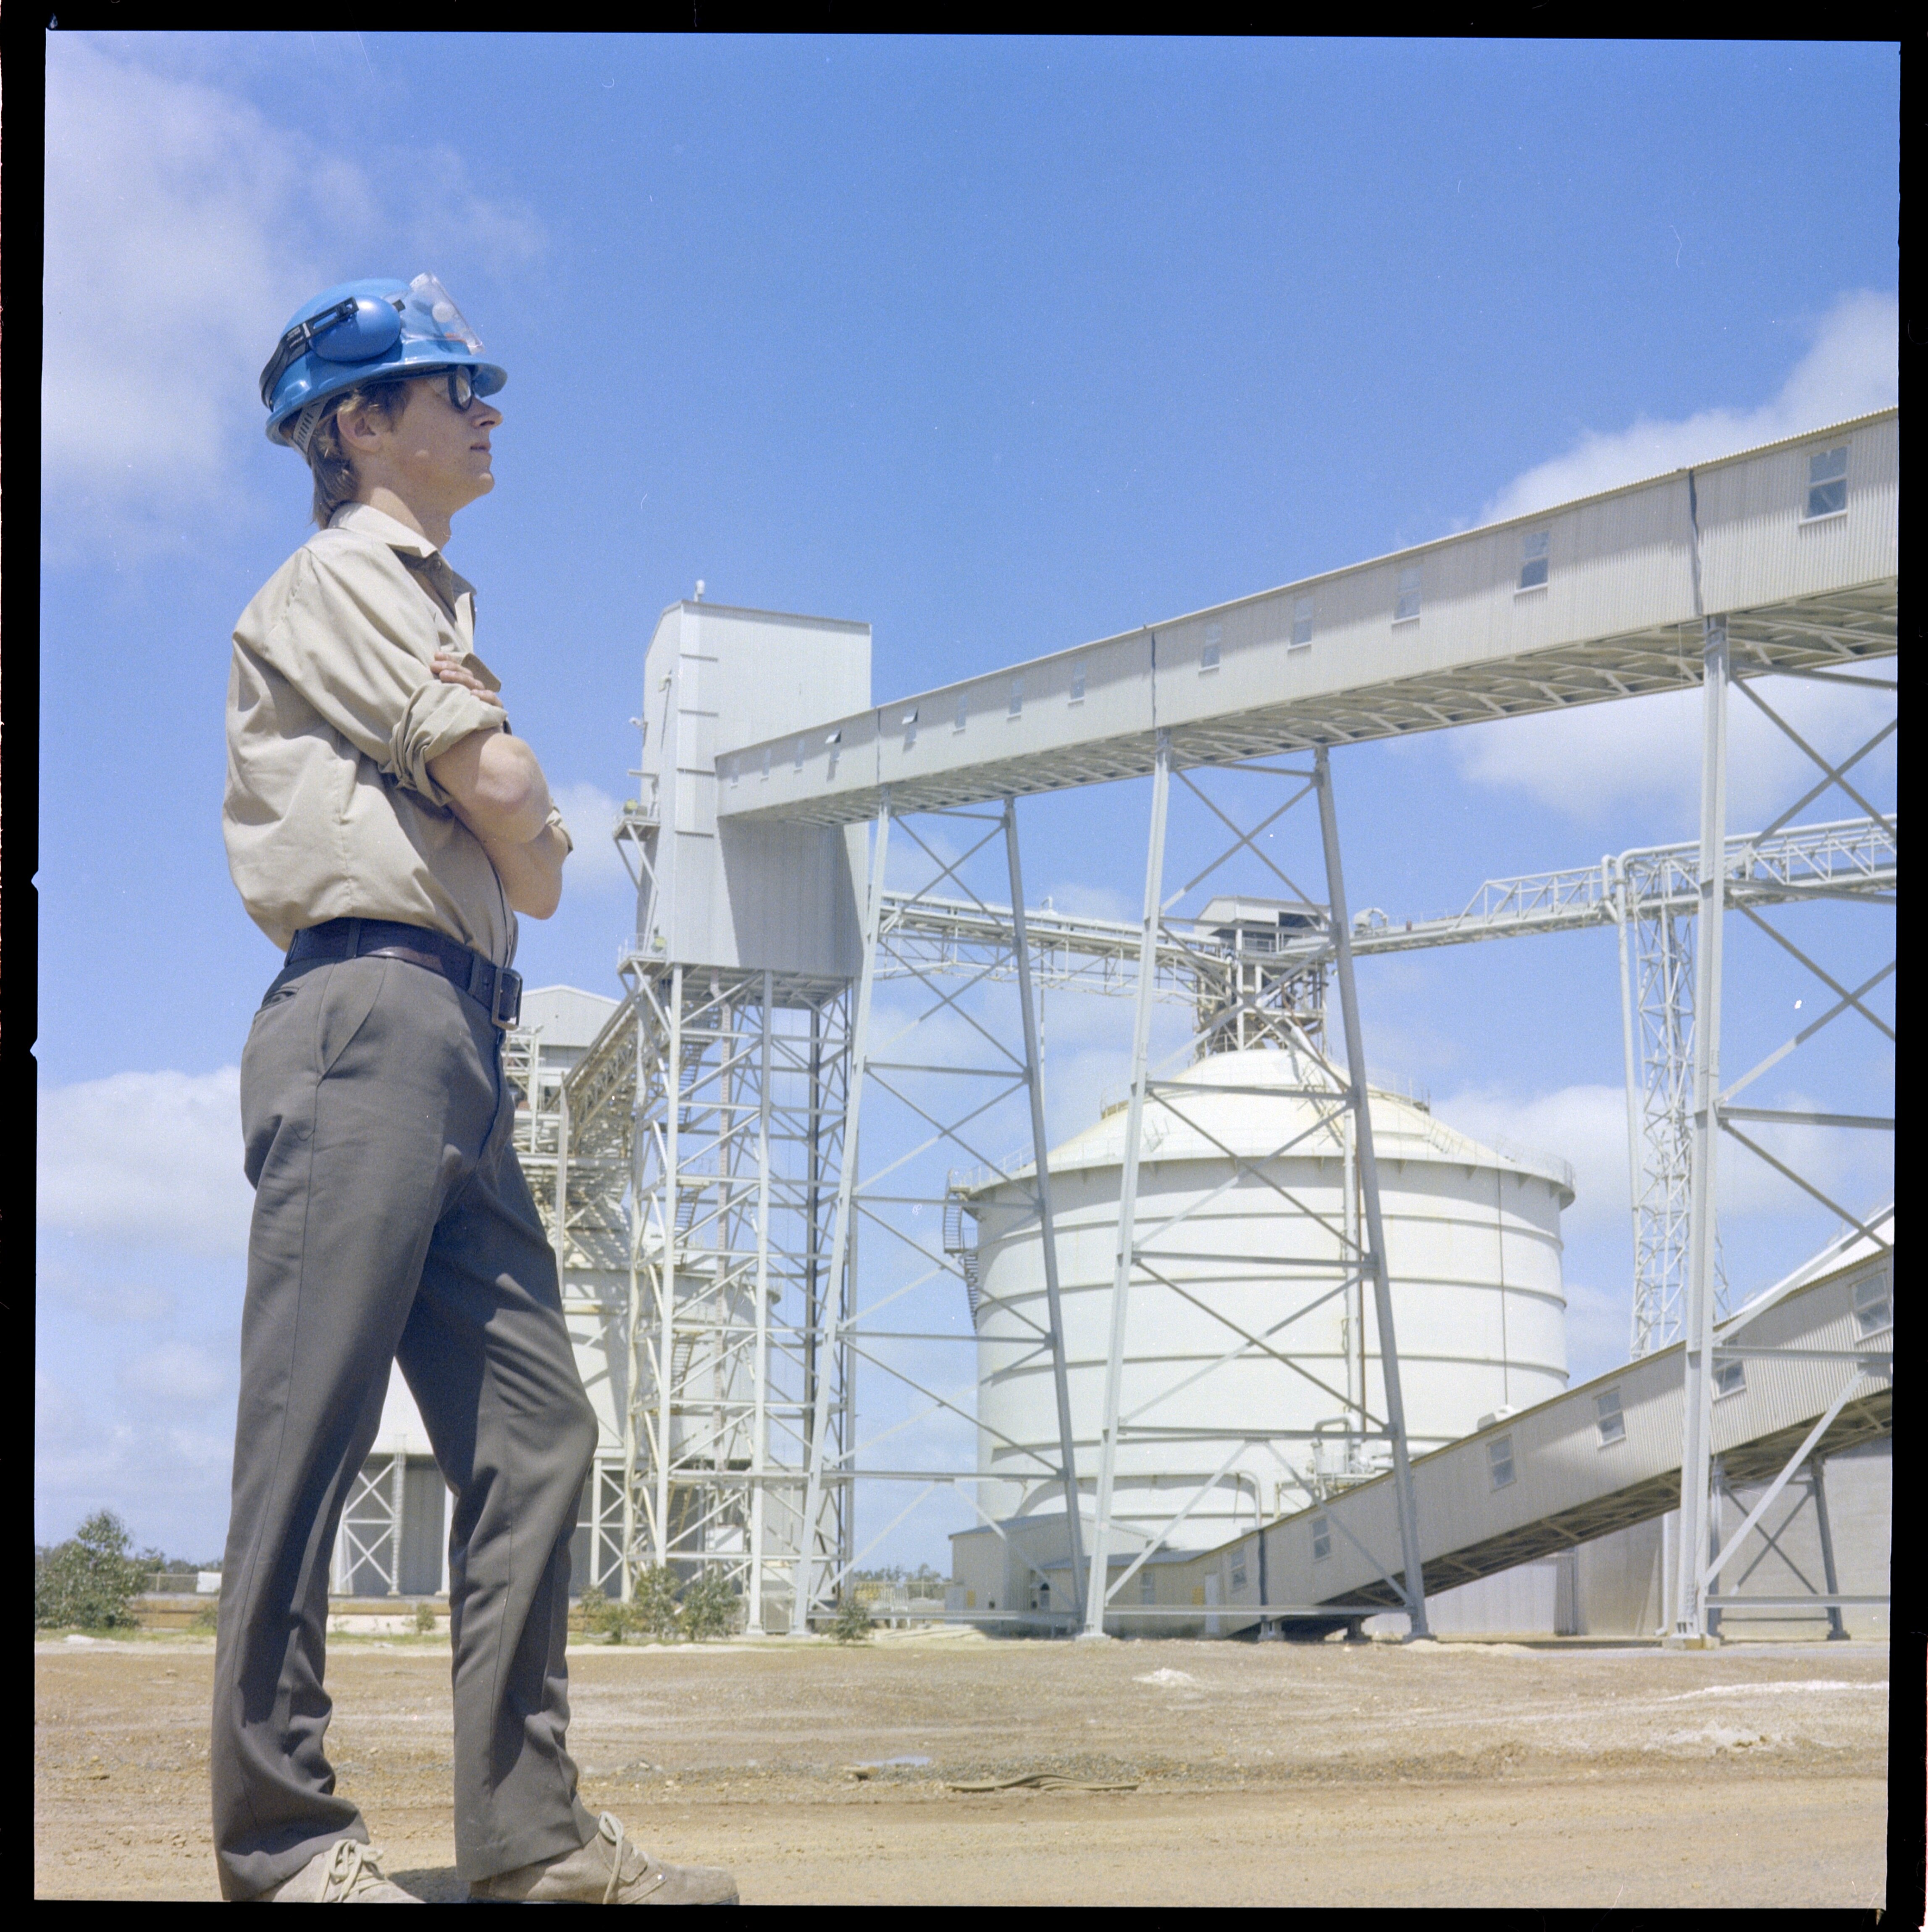
[[[413,282],[342,282],[296,309],[269,365],[261,400],[269,442],[307,454],[319,404],[381,377],[469,369],[477,396],[493,396],[508,373],[481,361],[481,338],[433,274]]]

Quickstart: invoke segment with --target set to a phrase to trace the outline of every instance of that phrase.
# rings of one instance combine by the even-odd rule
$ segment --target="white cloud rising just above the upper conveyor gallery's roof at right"
[[[1901,307],[1893,296],[1872,290],[1843,296],[1772,402],[1756,410],[1700,410],[1671,423],[1640,417],[1630,429],[1590,429],[1565,456],[1515,477],[1486,506],[1480,522],[1526,516],[1594,491],[1885,410],[1899,396],[1899,328]]]

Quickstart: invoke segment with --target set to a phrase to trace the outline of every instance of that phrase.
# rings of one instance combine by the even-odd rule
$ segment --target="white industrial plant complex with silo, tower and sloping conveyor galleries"
[[[531,991],[510,1041],[603,1418],[578,1578],[721,1567],[751,1631],[802,1631],[949,1492],[979,1519],[952,1613],[993,1629],[1395,1615],[1700,1642],[1750,1592],[1878,1627],[1893,1122],[1741,1095],[1849,1024],[1891,1041],[1885,972],[1845,987],[1781,937],[1837,997],[1733,1078],[1719,1012],[1744,989],[1719,933],[1729,908],[1772,931],[1814,898],[1893,918],[1895,819],[1853,779],[1868,748],[1829,763],[1752,680],[1893,690],[1897,450],[1889,410],[889,705],[862,624],[672,605],[616,827],[638,885],[620,991]],[[1348,912],[1343,746],[1687,688],[1696,842],[1488,881],[1449,920]],[[1725,821],[1735,697],[1820,773],[1750,833]],[[1018,802],[1136,779],[1142,920],[1028,904]],[[1824,794],[1858,815],[1802,817]],[[1256,842],[1292,810],[1318,815],[1318,881]],[[1184,811],[1225,852],[1173,891]],[[1368,1088],[1352,972],[1588,925],[1619,945],[1636,1262],[1627,1370],[1571,1389],[1559,1150],[1482,1146]],[[1128,1009],[1130,1082],[1047,1148],[1057,989]],[[1177,1065],[1149,1051],[1157,1003],[1190,1026]],[[1762,1148],[1791,1122],[1878,1146],[1866,1198]],[[1715,1171],[1750,1155],[1845,1236],[1731,1308]],[[956,1387],[933,1385],[945,1349]],[[1615,1391],[1646,1420],[1609,1441]],[[920,1414],[968,1418],[978,1455],[921,1455]],[[1588,1430],[1594,1461],[1559,1447]],[[1636,1478],[1602,1490],[1634,1457],[1600,1455],[1634,1435]],[[396,1383],[338,1588],[433,1590],[440,1542]]]

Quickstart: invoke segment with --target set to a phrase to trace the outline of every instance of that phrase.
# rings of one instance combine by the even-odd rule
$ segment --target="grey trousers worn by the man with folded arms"
[[[282,972],[241,1055],[255,1215],[214,1646],[222,1895],[367,1841],[323,1754],[328,1559],[402,1374],[454,1490],[456,1857],[487,1878],[595,1835],[568,1729],[568,1542],[595,1412],[510,1144],[487,1014],[406,960]]]

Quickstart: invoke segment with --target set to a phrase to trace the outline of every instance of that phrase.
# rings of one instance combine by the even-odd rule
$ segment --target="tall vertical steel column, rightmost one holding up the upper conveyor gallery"
[[[1721,927],[1727,885],[1727,620],[1704,638],[1700,724],[1700,900],[1694,951],[1694,1140],[1687,1235],[1685,1387],[1681,1426],[1681,1580],[1673,1640],[1706,1642],[1706,1582],[1714,1435],[1714,1235],[1721,1092]]]

